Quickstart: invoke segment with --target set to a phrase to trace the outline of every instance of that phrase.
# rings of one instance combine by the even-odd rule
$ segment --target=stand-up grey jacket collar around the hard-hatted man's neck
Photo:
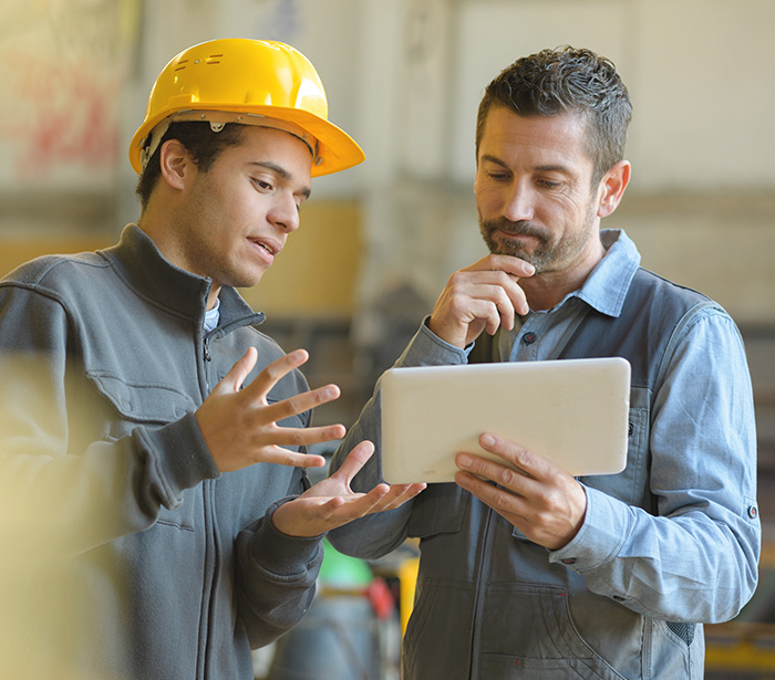
[[[111,262],[122,281],[142,297],[199,324],[204,322],[213,281],[175,266],[136,224],[127,224],[118,243],[97,252]],[[265,318],[264,314],[256,314],[230,286],[223,286],[218,297],[219,327],[236,322],[258,324]]]

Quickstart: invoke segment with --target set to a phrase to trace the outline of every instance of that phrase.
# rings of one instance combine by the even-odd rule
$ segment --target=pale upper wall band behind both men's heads
[[[366,163],[327,180],[323,192],[352,195],[406,175],[469,185],[484,85],[517,56],[564,43],[611,57],[630,88],[637,191],[775,184],[772,0],[8,0],[2,7],[0,189],[106,186],[111,172],[97,167],[99,153],[126,167],[123,145],[164,64],[195,42],[232,35],[285,40],[304,52],[326,83],[331,119],[364,146]],[[116,125],[115,149],[103,142],[90,165],[83,143],[90,126],[92,139],[107,139]],[[21,154],[32,154],[45,134],[73,147],[76,161],[52,153],[45,172],[22,171]]]

